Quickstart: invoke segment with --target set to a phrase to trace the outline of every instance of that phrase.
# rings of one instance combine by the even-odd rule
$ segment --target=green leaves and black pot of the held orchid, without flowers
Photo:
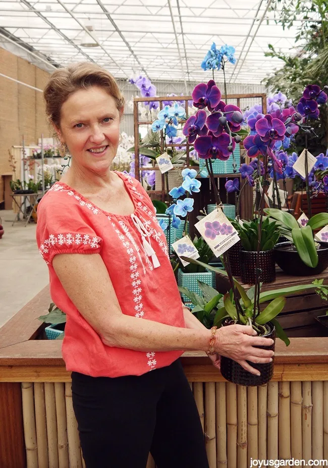
[[[227,272],[206,266],[198,259],[182,258],[192,264],[206,267],[219,276],[229,277]],[[231,278],[229,278],[230,280]],[[307,289],[323,288],[321,282],[314,282],[261,292],[260,284],[254,285],[246,291],[236,279],[233,279],[231,286],[231,289],[227,290],[224,295],[204,284],[199,284],[200,295],[187,288],[179,287],[179,290],[193,303],[192,313],[206,328],[226,327],[233,324],[250,325],[259,336],[274,340],[277,336],[287,346],[290,341],[277,320],[277,316],[284,309],[286,296]],[[268,304],[261,306],[266,302]],[[265,348],[274,350],[275,344]],[[258,386],[266,384],[271,379],[274,371],[274,360],[265,364],[253,362],[250,364],[261,373],[260,376],[250,374],[233,359],[221,356],[221,373],[225,379],[238,385]]]

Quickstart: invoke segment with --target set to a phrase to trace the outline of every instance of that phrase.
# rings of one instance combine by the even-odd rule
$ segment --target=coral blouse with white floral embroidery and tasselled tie
[[[57,253],[99,253],[123,314],[185,327],[166,237],[154,206],[136,179],[117,174],[133,200],[132,215],[104,212],[62,182],[52,185],[38,205],[36,239],[49,268],[51,298],[67,315],[62,348],[66,368],[93,377],[141,375],[170,365],[183,352],[104,345],[52,267]]]

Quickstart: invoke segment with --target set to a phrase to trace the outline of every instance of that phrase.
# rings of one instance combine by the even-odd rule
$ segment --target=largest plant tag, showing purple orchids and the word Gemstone
[[[220,208],[205,216],[195,227],[216,257],[239,241],[236,229]]]

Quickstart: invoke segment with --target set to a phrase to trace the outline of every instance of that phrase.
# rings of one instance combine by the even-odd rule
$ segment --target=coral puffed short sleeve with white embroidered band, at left
[[[99,253],[101,237],[90,226],[88,213],[74,197],[46,193],[37,207],[36,241],[49,265],[58,253]]]

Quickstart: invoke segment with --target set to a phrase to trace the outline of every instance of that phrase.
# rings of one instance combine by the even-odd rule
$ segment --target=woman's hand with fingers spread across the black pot
[[[274,351],[254,348],[254,346],[271,346],[274,340],[263,338],[256,331],[246,325],[228,325],[221,327],[215,333],[214,349],[222,356],[230,357],[238,362],[246,371],[259,376],[260,373],[249,365],[246,360],[264,364],[272,360]]]

